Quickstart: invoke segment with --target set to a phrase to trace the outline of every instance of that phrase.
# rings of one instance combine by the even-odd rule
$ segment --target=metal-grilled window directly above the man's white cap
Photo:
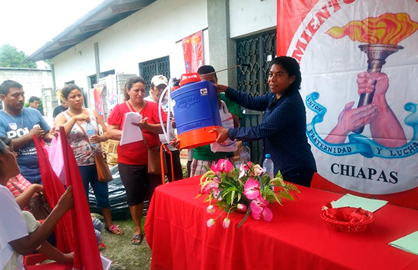
[[[139,63],[139,76],[145,80],[146,95],[150,90],[151,79],[155,75],[164,75],[170,79],[170,56]]]

